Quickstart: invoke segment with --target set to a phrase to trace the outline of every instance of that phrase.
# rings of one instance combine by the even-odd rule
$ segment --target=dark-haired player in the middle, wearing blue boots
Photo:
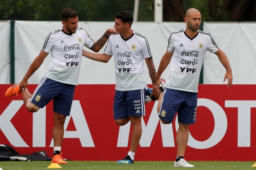
[[[93,54],[83,51],[83,56],[101,62],[108,62],[112,55],[114,57],[116,72],[114,120],[120,126],[126,125],[129,121],[132,125],[130,150],[124,159],[117,161],[120,164],[134,162],[135,151],[142,134],[141,116],[145,115],[146,94],[144,59],[153,85],[151,96],[155,96],[156,99],[159,96],[149,43],[145,37],[131,29],[132,22],[133,16],[129,11],[118,12],[114,25],[117,34],[110,35],[104,53]]]

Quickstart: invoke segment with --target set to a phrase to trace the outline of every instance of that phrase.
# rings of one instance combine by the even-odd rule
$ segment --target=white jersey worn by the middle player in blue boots
[[[112,34],[104,50],[113,55],[116,72],[116,90],[140,90],[145,88],[143,61],[152,57],[147,39],[138,33],[128,39]]]

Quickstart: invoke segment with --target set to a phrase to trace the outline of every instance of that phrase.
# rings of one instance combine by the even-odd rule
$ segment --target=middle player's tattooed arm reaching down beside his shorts
[[[145,58],[146,64],[148,66],[148,72],[149,72],[149,76],[151,78],[152,81],[152,87],[153,87],[153,91],[151,93],[151,95],[154,95],[156,97],[156,99],[158,100],[159,98],[159,89],[157,87],[157,82],[156,82],[156,69],[155,69],[155,65],[153,62],[153,58],[149,57],[149,58]]]

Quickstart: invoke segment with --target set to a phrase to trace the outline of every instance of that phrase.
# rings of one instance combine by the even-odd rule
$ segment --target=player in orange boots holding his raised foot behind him
[[[37,112],[53,100],[54,140],[52,163],[67,162],[60,156],[66,116],[70,115],[75,86],[78,84],[83,46],[98,52],[115,29],[108,29],[105,34],[94,42],[83,28],[78,28],[78,14],[65,8],[61,12],[63,27],[51,32],[45,39],[39,55],[30,65],[27,73],[19,84],[10,87],[6,97],[22,94],[24,104],[29,112]],[[51,52],[52,61],[37,86],[33,95],[26,89],[29,77],[40,67],[46,56]]]

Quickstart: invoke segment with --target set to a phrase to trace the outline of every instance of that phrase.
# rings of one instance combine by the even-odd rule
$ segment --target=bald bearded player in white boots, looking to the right
[[[201,14],[191,8],[185,16],[186,28],[173,32],[157,71],[157,83],[162,84],[161,74],[170,63],[163,92],[160,93],[158,115],[163,124],[172,123],[178,112],[179,128],[176,135],[177,157],[174,167],[194,167],[184,159],[188,142],[189,125],[196,122],[199,75],[206,50],[215,53],[226,69],[224,81],[232,85],[232,70],[226,54],[217,46],[209,33],[199,30]],[[161,91],[161,89],[160,89]]]

